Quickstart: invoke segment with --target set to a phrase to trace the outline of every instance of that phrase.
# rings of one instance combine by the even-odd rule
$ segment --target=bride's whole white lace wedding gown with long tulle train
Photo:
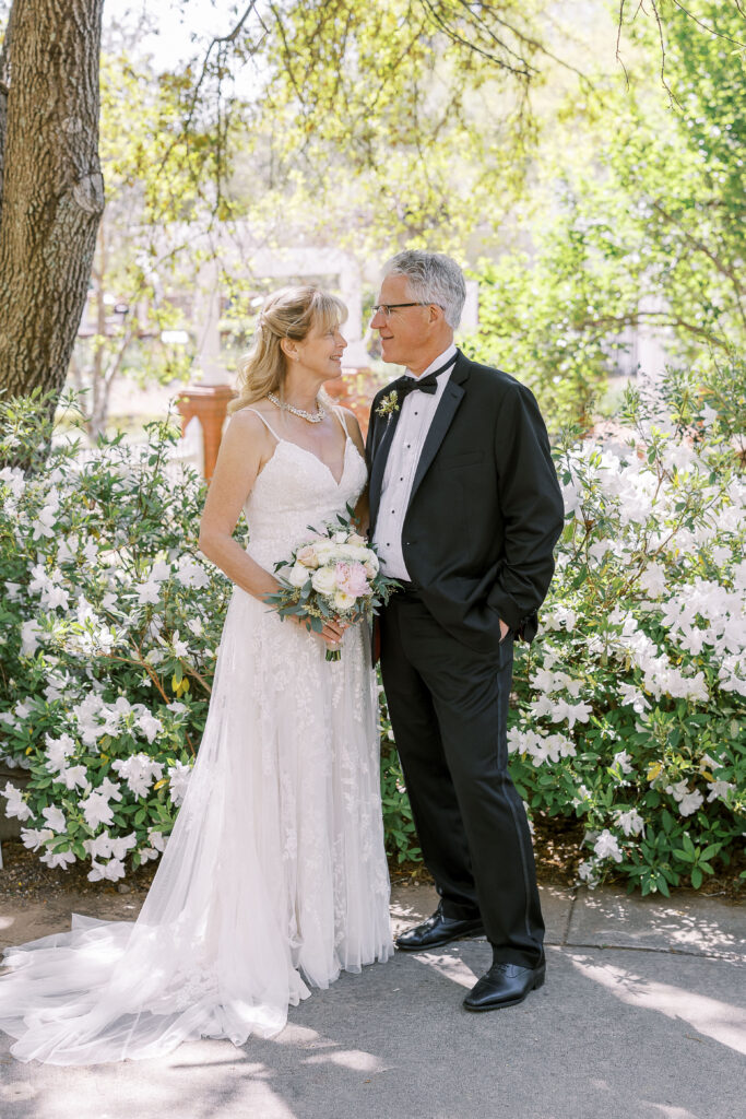
[[[277,439],[245,507],[249,555],[272,571],[365,482],[349,435],[339,482]],[[329,662],[318,638],[235,587],[198,758],[140,916],[74,915],[72,932],[8,950],[0,1028],[13,1055],[94,1064],[200,1036],[240,1045],[282,1029],[310,986],[388,959],[378,759],[367,631],[349,629]]]

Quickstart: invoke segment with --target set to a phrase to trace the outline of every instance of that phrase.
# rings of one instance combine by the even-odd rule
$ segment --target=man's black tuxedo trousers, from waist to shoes
[[[381,614],[380,662],[423,858],[446,916],[481,915],[495,960],[535,967],[544,920],[531,836],[508,773],[512,634],[476,653],[416,593]]]

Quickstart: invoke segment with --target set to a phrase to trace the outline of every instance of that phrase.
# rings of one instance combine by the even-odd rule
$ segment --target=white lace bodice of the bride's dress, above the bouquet
[[[346,516],[346,505],[355,505],[367,478],[366,464],[349,435],[342,476],[336,482],[312,451],[272,434],[277,440],[274,454],[244,506],[249,535],[246,551],[267,571],[309,537],[310,525],[321,529],[337,514]]]

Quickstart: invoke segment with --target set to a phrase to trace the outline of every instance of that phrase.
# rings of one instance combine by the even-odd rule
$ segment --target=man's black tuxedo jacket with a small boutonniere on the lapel
[[[367,457],[370,532],[398,412],[371,405]],[[564,524],[549,439],[533,394],[514,377],[456,363],[419,457],[402,547],[433,617],[478,652],[500,642],[500,619],[530,641]]]

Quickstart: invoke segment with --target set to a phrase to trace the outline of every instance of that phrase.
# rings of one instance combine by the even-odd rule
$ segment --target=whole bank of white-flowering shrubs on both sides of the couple
[[[567,526],[517,647],[509,745],[529,810],[584,819],[591,885],[698,887],[745,830],[737,372],[719,399],[673,384],[668,414],[631,394],[613,445],[557,452]],[[0,761],[18,774],[0,796],[48,866],[116,882],[159,857],[183,800],[230,585],[197,551],[204,488],[166,469],[168,425],[144,457],[115,439],[79,459],[46,415],[0,404]],[[416,859],[383,695],[381,723],[387,846]]]

